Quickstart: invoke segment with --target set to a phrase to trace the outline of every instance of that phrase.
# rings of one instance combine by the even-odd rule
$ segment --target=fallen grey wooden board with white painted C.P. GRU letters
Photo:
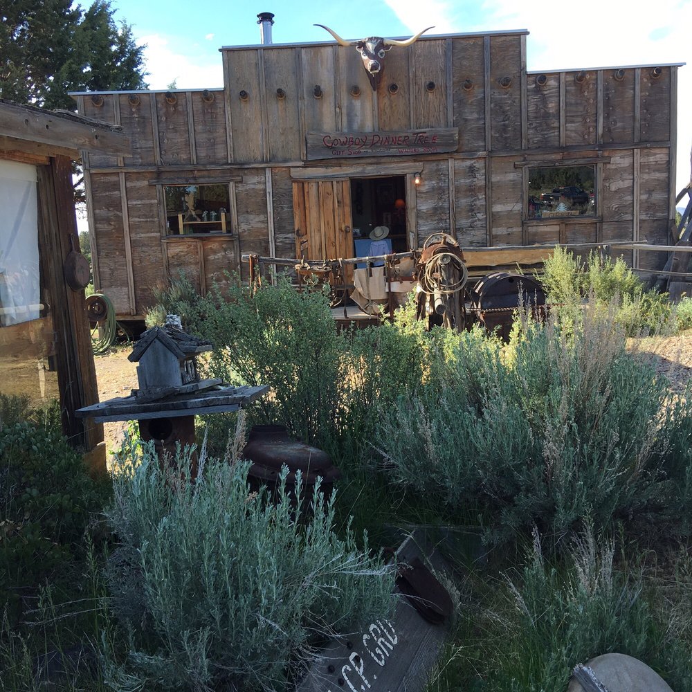
[[[419,534],[406,538],[397,560],[424,558]],[[439,575],[448,566],[437,552],[428,561]],[[316,657],[297,692],[417,692],[425,689],[448,635],[448,623],[433,625],[399,594],[391,620],[373,619],[361,631],[331,641]]]

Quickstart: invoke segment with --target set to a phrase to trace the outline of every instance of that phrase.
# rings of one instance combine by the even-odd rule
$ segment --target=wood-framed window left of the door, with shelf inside
[[[229,183],[164,185],[166,235],[233,233]]]

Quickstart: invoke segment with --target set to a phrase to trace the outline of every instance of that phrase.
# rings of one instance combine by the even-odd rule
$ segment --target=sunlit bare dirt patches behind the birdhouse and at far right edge
[[[673,390],[684,390],[692,376],[692,331],[677,336],[630,339],[629,345],[633,352],[650,358],[657,372],[671,381]],[[95,357],[100,401],[126,397],[130,390],[137,388],[136,363],[127,360],[130,352],[131,345]],[[120,446],[125,426],[125,423],[104,424],[107,452]]]

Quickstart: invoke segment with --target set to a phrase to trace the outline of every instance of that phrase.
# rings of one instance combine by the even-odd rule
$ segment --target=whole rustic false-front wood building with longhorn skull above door
[[[355,48],[325,42],[221,48],[223,89],[75,94],[132,140],[127,159],[84,154],[98,289],[140,320],[177,271],[205,291],[241,253],[361,256],[380,225],[394,251],[437,231],[668,242],[680,64],[529,73],[526,42],[424,35],[388,51],[376,91]],[[542,208],[550,181],[589,197]]]

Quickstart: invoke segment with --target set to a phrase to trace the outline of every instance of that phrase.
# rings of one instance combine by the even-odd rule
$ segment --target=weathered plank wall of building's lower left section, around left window
[[[103,94],[78,98],[80,111],[131,133],[133,155],[86,158],[93,257],[98,289],[120,317],[140,318],[153,290],[182,273],[199,291],[222,286],[244,252],[268,251],[262,170],[229,165],[224,91]],[[230,209],[233,236],[167,237],[163,185],[228,182],[238,203]]]

